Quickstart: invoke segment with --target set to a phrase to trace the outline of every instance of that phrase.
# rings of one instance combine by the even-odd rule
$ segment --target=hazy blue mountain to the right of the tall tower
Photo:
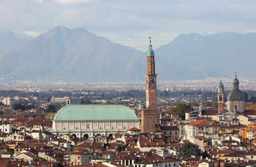
[[[241,76],[256,76],[256,33],[180,34],[155,53],[205,76],[234,76],[236,71]]]

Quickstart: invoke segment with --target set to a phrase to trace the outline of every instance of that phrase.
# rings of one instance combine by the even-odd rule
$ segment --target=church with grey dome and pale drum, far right
[[[239,90],[239,80],[233,80],[233,90],[228,94],[227,110],[230,112],[244,112],[244,94]]]

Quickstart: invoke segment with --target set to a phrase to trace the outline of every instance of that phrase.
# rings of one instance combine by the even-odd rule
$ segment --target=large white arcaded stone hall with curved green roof
[[[127,133],[132,127],[140,129],[140,120],[127,106],[68,105],[56,113],[51,133],[86,139],[97,134]]]

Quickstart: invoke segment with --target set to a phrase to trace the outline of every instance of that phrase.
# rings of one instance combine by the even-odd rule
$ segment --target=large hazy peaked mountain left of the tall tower
[[[143,53],[84,29],[55,27],[35,39],[0,51],[3,76],[51,77],[88,82],[138,80]]]

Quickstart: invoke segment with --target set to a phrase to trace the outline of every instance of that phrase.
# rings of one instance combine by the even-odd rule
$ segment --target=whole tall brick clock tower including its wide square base
[[[149,38],[147,51],[147,73],[146,73],[146,108],[138,112],[141,121],[141,133],[156,133],[157,122],[157,92],[154,50]]]

